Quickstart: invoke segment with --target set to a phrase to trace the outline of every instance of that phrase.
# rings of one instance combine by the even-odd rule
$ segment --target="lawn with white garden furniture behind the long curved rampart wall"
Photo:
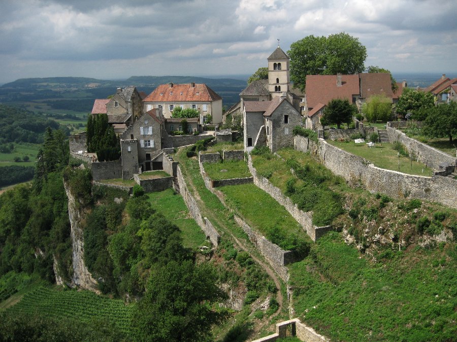
[[[365,158],[381,169],[399,171],[418,176],[433,175],[433,171],[422,163],[417,163],[414,160],[411,161],[408,157],[398,157],[397,151],[390,143],[384,142],[382,143],[382,146],[380,143],[377,143],[375,147],[370,148],[365,143],[356,144],[353,141],[339,142],[327,140],[327,142],[355,156]]]

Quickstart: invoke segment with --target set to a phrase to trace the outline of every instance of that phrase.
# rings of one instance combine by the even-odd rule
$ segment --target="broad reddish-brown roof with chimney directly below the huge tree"
[[[318,103],[327,104],[331,100],[347,99],[352,103],[352,95],[359,94],[358,75],[342,75],[342,85],[337,86],[337,75],[307,75],[306,101],[308,108]]]

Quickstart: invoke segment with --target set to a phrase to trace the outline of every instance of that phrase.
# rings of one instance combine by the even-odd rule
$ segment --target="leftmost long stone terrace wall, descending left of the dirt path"
[[[206,217],[202,216],[202,213],[197,205],[197,202],[195,202],[195,199],[190,194],[189,189],[187,188],[179,165],[176,168],[176,176],[178,178],[181,196],[184,200],[184,203],[187,206],[187,209],[189,209],[190,214],[195,219],[197,224],[201,227],[201,229],[205,233],[206,237],[211,241],[211,243],[214,246],[218,246],[220,241],[220,235],[219,233],[217,233],[216,229],[211,224],[211,222]]]

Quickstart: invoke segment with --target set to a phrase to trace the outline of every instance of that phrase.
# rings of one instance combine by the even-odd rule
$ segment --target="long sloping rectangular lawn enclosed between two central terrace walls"
[[[269,194],[254,184],[219,188],[227,205],[271,242],[285,250],[296,248],[296,237],[308,240],[303,227]]]

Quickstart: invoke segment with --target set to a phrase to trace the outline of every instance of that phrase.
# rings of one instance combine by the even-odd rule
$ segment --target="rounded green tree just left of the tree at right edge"
[[[405,88],[402,96],[398,99],[397,114],[405,118],[407,113],[410,112],[411,118],[418,120],[418,116],[420,116],[420,118],[423,117],[423,115],[421,115],[423,110],[433,108],[434,103],[433,95],[431,93]]]

